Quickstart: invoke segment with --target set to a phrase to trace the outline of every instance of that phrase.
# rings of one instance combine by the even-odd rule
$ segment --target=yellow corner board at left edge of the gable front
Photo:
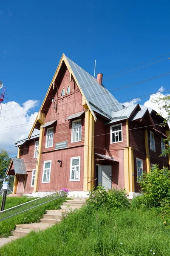
[[[37,157],[37,165],[35,171],[35,180],[34,180],[34,190],[33,192],[37,192],[38,190],[38,176],[40,171],[40,160],[41,160],[41,151],[42,151],[42,139],[43,139],[43,128],[40,128],[40,138],[39,138],[39,147],[38,147],[38,157]]]

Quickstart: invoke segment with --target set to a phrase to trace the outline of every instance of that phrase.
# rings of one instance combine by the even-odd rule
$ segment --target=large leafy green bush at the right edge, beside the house
[[[149,173],[143,173],[139,178],[139,185],[144,195],[144,203],[150,207],[159,207],[164,198],[170,198],[170,170],[158,165]]]

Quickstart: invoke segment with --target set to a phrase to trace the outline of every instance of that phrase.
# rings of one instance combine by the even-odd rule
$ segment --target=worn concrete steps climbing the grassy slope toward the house
[[[71,200],[67,200],[63,205],[61,205],[61,209],[48,210],[38,223],[16,225],[16,229],[12,231],[13,236],[9,236],[9,238],[6,239],[6,243],[19,237],[26,236],[31,231],[37,232],[39,230],[45,230],[48,227],[59,223],[63,216],[66,216],[69,212],[82,207],[82,205],[85,204],[85,201],[85,198],[71,198]]]

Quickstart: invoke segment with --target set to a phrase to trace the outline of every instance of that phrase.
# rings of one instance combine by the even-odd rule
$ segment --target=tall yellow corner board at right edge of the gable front
[[[89,109],[85,110],[85,146],[84,146],[84,180],[83,191],[87,192],[93,186],[94,179],[94,117]]]

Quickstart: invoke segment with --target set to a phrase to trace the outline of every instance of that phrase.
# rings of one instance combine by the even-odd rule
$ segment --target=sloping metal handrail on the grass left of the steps
[[[63,189],[60,191],[51,193],[49,195],[45,195],[41,198],[37,198],[37,199],[31,200],[31,201],[28,201],[26,203],[19,204],[17,206],[8,208],[8,209],[0,212],[0,221],[3,221],[6,218],[10,218],[10,217],[20,214],[22,212],[26,212],[26,211],[33,209],[35,207],[38,207],[42,204],[46,204],[48,202],[54,201],[61,197],[63,197],[63,198],[65,197],[65,191]]]

